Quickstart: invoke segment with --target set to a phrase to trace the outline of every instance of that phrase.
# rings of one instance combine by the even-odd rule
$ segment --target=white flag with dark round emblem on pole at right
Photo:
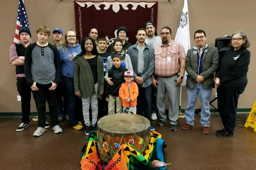
[[[177,29],[177,33],[174,41],[177,41],[182,44],[187,54],[187,50],[190,49],[190,34],[189,34],[189,20],[188,20],[188,8],[187,8],[187,0],[184,0],[184,6],[181,13],[180,23]],[[187,72],[185,71],[185,75],[183,78],[183,82],[181,86],[186,85],[187,80]]]

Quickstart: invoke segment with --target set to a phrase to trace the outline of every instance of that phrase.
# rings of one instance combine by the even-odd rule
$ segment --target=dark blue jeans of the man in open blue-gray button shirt
[[[140,87],[139,96],[137,97],[137,115],[144,116],[151,120],[151,94],[152,86]]]

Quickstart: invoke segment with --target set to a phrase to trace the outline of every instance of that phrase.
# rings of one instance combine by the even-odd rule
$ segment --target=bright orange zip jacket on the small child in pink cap
[[[139,89],[135,82],[131,82],[130,88],[128,83],[122,83],[119,88],[119,97],[122,99],[123,107],[133,107],[137,105],[137,97],[139,95]],[[126,102],[127,97],[131,100],[130,103]]]

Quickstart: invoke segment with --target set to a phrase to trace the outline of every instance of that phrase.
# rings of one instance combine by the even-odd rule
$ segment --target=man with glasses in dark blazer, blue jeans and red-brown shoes
[[[186,123],[181,127],[187,130],[194,126],[194,112],[197,96],[201,101],[201,119],[203,133],[210,133],[211,116],[209,102],[214,85],[214,72],[218,68],[218,50],[205,43],[207,37],[203,30],[197,30],[194,34],[196,46],[187,52],[187,107],[185,109]]]

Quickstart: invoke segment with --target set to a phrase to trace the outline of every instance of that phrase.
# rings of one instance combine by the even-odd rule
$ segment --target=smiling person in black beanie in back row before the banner
[[[131,44],[129,44],[125,38],[128,37],[128,30],[126,27],[119,27],[117,29],[117,35],[118,35],[118,38],[120,40],[122,40],[122,44],[123,44],[123,50],[126,52],[127,49],[131,46]],[[109,47],[107,48],[106,50],[107,52],[109,53],[112,53],[114,51],[113,49],[113,44],[109,45]]]

